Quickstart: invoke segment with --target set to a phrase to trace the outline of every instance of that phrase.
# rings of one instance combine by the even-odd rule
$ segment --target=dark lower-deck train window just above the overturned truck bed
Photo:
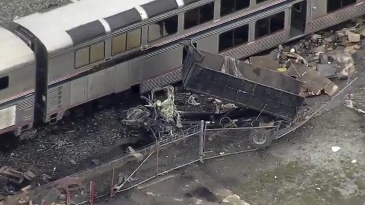
[[[249,25],[240,26],[219,35],[218,51],[233,48],[249,40]]]

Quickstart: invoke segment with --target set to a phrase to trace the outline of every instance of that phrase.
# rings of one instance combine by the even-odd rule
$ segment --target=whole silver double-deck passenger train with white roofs
[[[13,54],[0,55],[0,133],[54,123],[131,87],[180,81],[181,43],[243,58],[364,15],[364,1],[74,0],[17,19],[13,34],[0,30],[14,41],[0,42]]]

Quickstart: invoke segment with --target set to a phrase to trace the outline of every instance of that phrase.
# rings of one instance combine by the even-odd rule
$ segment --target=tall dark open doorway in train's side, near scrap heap
[[[307,0],[292,6],[290,18],[290,38],[303,35],[306,31]]]

